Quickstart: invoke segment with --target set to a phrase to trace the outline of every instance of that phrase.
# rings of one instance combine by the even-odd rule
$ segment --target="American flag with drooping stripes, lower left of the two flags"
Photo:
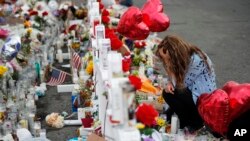
[[[51,78],[50,78],[49,82],[47,82],[47,85],[57,86],[57,85],[62,84],[65,81],[66,75],[67,75],[66,72],[53,69]]]

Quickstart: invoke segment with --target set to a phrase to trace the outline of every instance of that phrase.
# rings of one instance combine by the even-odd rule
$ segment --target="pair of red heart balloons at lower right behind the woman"
[[[215,132],[225,135],[229,124],[250,110],[250,83],[230,81],[222,89],[203,94],[198,111],[205,123]]]

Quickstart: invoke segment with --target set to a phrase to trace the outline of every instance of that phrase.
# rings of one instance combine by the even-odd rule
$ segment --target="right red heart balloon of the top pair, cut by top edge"
[[[148,0],[142,7],[145,23],[152,32],[165,31],[170,24],[169,17],[163,13],[161,0]]]

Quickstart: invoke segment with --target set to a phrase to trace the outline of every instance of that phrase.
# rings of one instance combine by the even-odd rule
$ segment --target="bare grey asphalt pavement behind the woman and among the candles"
[[[146,0],[134,0],[142,7]],[[217,86],[227,81],[250,82],[250,1],[249,0],[162,0],[171,25],[161,38],[175,34],[205,51],[213,61]],[[68,79],[69,80],[69,79]],[[68,81],[70,82],[70,80]],[[38,101],[38,114],[71,113],[71,94],[57,94],[49,87]],[[42,124],[52,141],[76,136],[77,127],[54,129]]]

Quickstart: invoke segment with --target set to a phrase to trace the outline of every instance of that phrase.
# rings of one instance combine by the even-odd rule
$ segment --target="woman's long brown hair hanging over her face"
[[[198,47],[185,42],[177,36],[166,36],[158,45],[156,55],[159,55],[159,49],[163,48],[163,52],[170,57],[169,60],[162,60],[165,64],[165,70],[170,78],[175,79],[177,87],[184,86],[185,74],[188,71],[191,56],[196,53],[207,65],[209,71],[211,68],[207,61],[207,56]]]

